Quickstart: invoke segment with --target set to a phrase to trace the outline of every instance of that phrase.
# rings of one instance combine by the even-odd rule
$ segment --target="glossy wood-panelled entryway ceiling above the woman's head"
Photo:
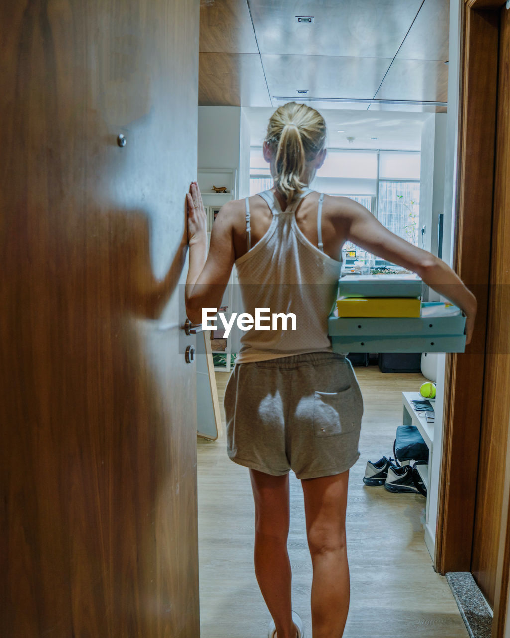
[[[201,0],[199,103],[444,112],[448,24],[449,0]]]

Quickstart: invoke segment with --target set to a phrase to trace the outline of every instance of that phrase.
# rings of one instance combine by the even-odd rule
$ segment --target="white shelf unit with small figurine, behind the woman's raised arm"
[[[226,193],[215,193],[212,189],[213,186],[224,186],[227,189]],[[214,223],[214,214],[211,209],[219,209],[226,202],[237,199],[237,170],[235,168],[199,168],[198,169],[198,187],[202,195],[203,205],[208,213],[208,226],[207,226],[207,243],[210,242],[210,231],[212,223]],[[221,301],[222,306],[227,307],[226,317],[230,318],[232,311],[232,283],[233,273],[230,275],[228,286]],[[214,366],[214,370],[218,372],[230,372],[231,365],[231,353],[232,342],[231,338],[226,339],[225,350],[212,350],[212,354],[224,354],[226,355],[226,366]]]

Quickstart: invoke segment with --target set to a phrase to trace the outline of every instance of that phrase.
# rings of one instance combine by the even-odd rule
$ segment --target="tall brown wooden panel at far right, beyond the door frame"
[[[498,17],[499,12],[494,12]],[[492,216],[483,416],[478,463],[472,574],[490,605],[495,602],[500,524],[510,419],[510,19],[501,12],[496,163]],[[506,582],[508,571],[504,574]],[[503,588],[506,600],[506,587]]]

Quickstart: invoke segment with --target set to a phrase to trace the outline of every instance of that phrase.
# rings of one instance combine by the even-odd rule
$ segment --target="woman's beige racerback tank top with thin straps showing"
[[[311,193],[302,193],[301,198]],[[305,237],[296,223],[295,211],[300,199],[282,212],[272,191],[260,193],[273,214],[266,234],[250,248],[250,210],[246,198],[247,252],[235,260],[241,299],[245,313],[256,316],[256,308],[272,313],[294,313],[296,330],[277,329],[265,322],[269,330],[254,327],[244,332],[236,363],[289,357],[307,352],[332,352],[328,337],[328,316],[338,294],[341,261],[323,251],[321,215],[324,195],[317,207],[319,248]]]

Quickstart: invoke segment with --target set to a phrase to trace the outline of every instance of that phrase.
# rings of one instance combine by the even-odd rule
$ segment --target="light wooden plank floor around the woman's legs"
[[[402,425],[402,391],[423,376],[356,367],[365,413],[361,456],[349,473],[347,555],[351,606],[344,638],[465,638],[448,582],[434,572],[423,537],[425,498],[391,494],[362,482],[367,459],[393,456]],[[222,398],[228,373],[216,373]],[[221,407],[222,409],[222,407]],[[252,565],[253,505],[248,470],[230,461],[223,435],[198,440],[198,524],[201,638],[266,638],[270,614]],[[312,579],[300,482],[291,472],[289,556],[293,608],[311,636]]]

